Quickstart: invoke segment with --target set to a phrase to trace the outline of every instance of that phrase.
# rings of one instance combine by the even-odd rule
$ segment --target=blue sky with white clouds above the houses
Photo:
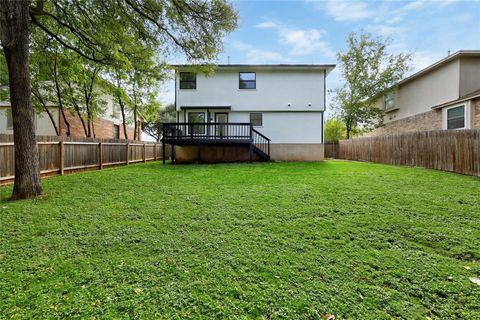
[[[234,1],[238,29],[218,63],[336,63],[350,32],[390,37],[391,52],[413,52],[412,72],[461,49],[480,49],[480,0]],[[340,84],[338,70],[328,89]],[[173,102],[173,82],[162,102]]]

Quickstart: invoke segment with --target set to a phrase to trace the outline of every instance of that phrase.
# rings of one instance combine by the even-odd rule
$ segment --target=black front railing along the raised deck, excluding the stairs
[[[164,123],[163,138],[250,140],[251,130],[250,123]]]

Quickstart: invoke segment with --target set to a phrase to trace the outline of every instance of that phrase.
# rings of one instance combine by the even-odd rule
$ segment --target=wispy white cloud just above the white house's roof
[[[315,51],[326,57],[335,55],[328,43],[322,40],[325,30],[291,28],[274,21],[265,21],[256,25],[256,27],[277,30],[280,35],[280,42],[292,47],[289,52],[292,56],[308,55]]]

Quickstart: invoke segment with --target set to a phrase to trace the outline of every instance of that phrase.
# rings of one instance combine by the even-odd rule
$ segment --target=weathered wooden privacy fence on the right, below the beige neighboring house
[[[480,130],[422,131],[325,144],[325,157],[480,176]]]

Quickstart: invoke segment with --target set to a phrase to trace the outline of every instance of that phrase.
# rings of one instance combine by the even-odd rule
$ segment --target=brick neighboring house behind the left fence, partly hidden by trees
[[[122,117],[120,107],[114,102],[109,95],[102,97],[106,101],[106,108],[103,114],[97,117],[93,123],[93,128],[96,138],[125,138],[122,124]],[[63,119],[59,107],[52,105],[49,107],[52,118],[59,130],[60,136],[67,135],[67,125]],[[70,135],[72,137],[85,137],[85,130],[82,122],[76,113],[71,113],[70,110],[65,110],[65,115],[70,124]],[[40,112],[35,114],[35,133],[37,135],[51,135],[55,136],[55,128],[52,120],[47,112]],[[86,123],[85,123],[86,124]],[[127,136],[133,139],[134,128],[127,126]],[[11,116],[11,107],[7,102],[0,102],[0,134],[13,134],[13,121]],[[141,135],[138,135],[141,139]]]

